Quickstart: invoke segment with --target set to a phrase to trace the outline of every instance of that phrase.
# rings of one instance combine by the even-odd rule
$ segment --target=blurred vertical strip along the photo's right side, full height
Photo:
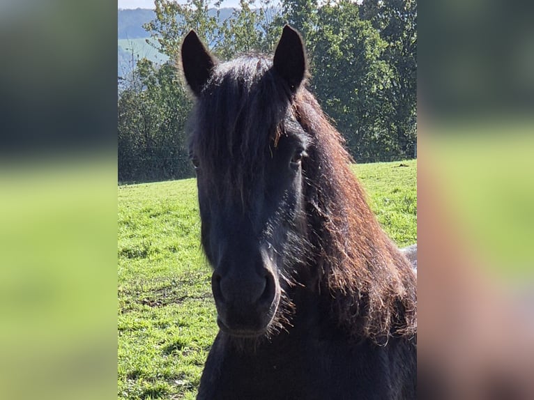
[[[421,399],[534,399],[534,4],[420,1]]]

